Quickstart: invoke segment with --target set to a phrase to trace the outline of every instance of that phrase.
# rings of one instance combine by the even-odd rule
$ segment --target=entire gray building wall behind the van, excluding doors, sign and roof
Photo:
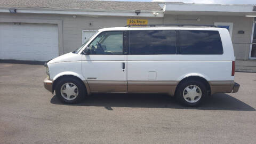
[[[63,34],[60,42],[63,47],[60,54],[73,51],[82,44],[82,30],[97,30],[106,27],[123,27],[126,20],[130,17],[86,17],[77,15],[53,15],[53,14],[11,14],[1,13],[0,21],[13,19],[16,21],[26,19],[27,22],[35,20],[57,20],[62,22]],[[196,21],[199,18],[201,21]],[[234,52],[237,60],[247,60],[250,50],[251,32],[253,18],[235,17],[235,16],[209,16],[209,15],[169,15],[165,14],[164,18],[139,18],[148,19],[149,24],[207,24],[213,25],[214,22],[233,22],[232,41]],[[92,26],[89,23],[92,22]],[[244,30],[245,34],[238,34],[238,30]]]

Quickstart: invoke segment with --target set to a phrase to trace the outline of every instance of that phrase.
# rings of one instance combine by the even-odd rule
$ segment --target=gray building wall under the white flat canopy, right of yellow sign
[[[199,22],[196,19],[201,19]],[[164,15],[164,24],[206,24],[213,25],[214,22],[233,22],[232,42],[237,60],[248,60],[251,43],[253,18],[236,16],[210,16],[210,15]],[[243,30],[244,34],[238,34]]]

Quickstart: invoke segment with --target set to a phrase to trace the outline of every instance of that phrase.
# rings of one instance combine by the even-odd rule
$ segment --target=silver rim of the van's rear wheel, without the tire
[[[202,91],[196,85],[189,85],[183,90],[183,98],[189,103],[197,102],[201,97]]]

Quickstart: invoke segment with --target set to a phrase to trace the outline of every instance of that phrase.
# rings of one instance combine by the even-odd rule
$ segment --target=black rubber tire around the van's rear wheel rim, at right
[[[189,85],[196,85],[199,87],[199,89],[201,89],[202,95],[201,98],[196,101],[196,102],[188,102],[187,100],[185,100],[185,98],[183,97],[183,91],[185,91],[185,88]],[[207,95],[207,90],[206,90],[206,86],[204,83],[200,82],[200,81],[195,81],[195,80],[188,80],[185,82],[182,82],[179,87],[177,88],[177,91],[175,92],[175,97],[176,99],[184,106],[187,107],[197,107],[198,105],[200,105],[202,103],[202,101],[204,100],[204,98]],[[189,98],[188,98],[189,99]],[[196,99],[196,98],[195,98]]]

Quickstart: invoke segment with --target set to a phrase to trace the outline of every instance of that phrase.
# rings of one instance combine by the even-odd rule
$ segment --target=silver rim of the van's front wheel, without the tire
[[[73,83],[65,83],[60,89],[61,96],[66,100],[74,100],[78,95],[78,87]]]

